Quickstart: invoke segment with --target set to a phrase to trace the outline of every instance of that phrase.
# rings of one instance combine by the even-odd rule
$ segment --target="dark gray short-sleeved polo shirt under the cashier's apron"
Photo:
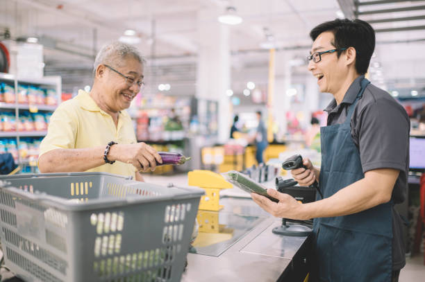
[[[359,76],[351,84],[342,103],[336,100],[324,109],[328,112],[328,125],[343,123],[348,109],[360,91]],[[410,120],[403,109],[387,91],[370,83],[358,101],[351,117],[351,137],[360,152],[363,173],[377,168],[400,170],[392,191],[395,203],[406,198],[407,174],[409,168]]]

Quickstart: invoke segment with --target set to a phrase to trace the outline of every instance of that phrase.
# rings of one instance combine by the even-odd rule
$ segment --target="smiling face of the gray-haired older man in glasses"
[[[120,67],[122,66],[122,67]],[[110,66],[116,71],[131,78],[135,83],[129,85],[127,79],[119,73],[108,69],[106,76],[106,103],[113,112],[119,112],[130,107],[131,101],[139,93],[140,87],[136,82],[143,80],[143,65],[132,57],[120,61],[119,66]]]

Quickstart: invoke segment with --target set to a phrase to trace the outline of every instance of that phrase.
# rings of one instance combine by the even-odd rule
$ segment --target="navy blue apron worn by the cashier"
[[[365,177],[358,148],[351,137],[353,109],[369,80],[349,106],[342,124],[321,127],[322,167],[319,188],[324,197]],[[378,142],[378,140],[377,140]],[[317,195],[317,200],[319,196]],[[380,282],[392,275],[392,200],[351,215],[314,220],[317,273],[313,281]]]

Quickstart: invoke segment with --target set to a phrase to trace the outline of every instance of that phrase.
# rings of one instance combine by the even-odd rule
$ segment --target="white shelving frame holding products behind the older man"
[[[6,85],[12,87],[15,91],[15,103],[0,103],[0,111],[3,112],[14,112],[15,114],[15,130],[10,132],[0,132],[0,139],[14,139],[16,140],[17,146],[17,164],[20,166],[31,166],[31,172],[34,173],[35,166],[37,166],[36,160],[23,159],[19,149],[21,148],[21,138],[26,137],[43,137],[46,136],[47,130],[42,131],[19,131],[17,126],[19,116],[22,116],[22,111],[28,111],[32,114],[38,112],[53,112],[61,102],[62,93],[62,79],[60,76],[46,76],[43,78],[18,78],[15,75],[9,73],[0,73],[0,83],[3,82]],[[33,86],[39,87],[40,89],[54,89],[56,91],[56,105],[29,105],[19,103],[19,85],[26,87]]]

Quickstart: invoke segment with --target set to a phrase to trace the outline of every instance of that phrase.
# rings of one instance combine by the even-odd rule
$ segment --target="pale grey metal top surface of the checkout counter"
[[[306,237],[272,233],[281,220],[260,209],[252,200],[225,197],[220,204],[224,204],[222,212],[265,219],[219,256],[188,254],[188,268],[181,281],[278,281],[283,272],[293,267],[291,261],[306,243]]]

